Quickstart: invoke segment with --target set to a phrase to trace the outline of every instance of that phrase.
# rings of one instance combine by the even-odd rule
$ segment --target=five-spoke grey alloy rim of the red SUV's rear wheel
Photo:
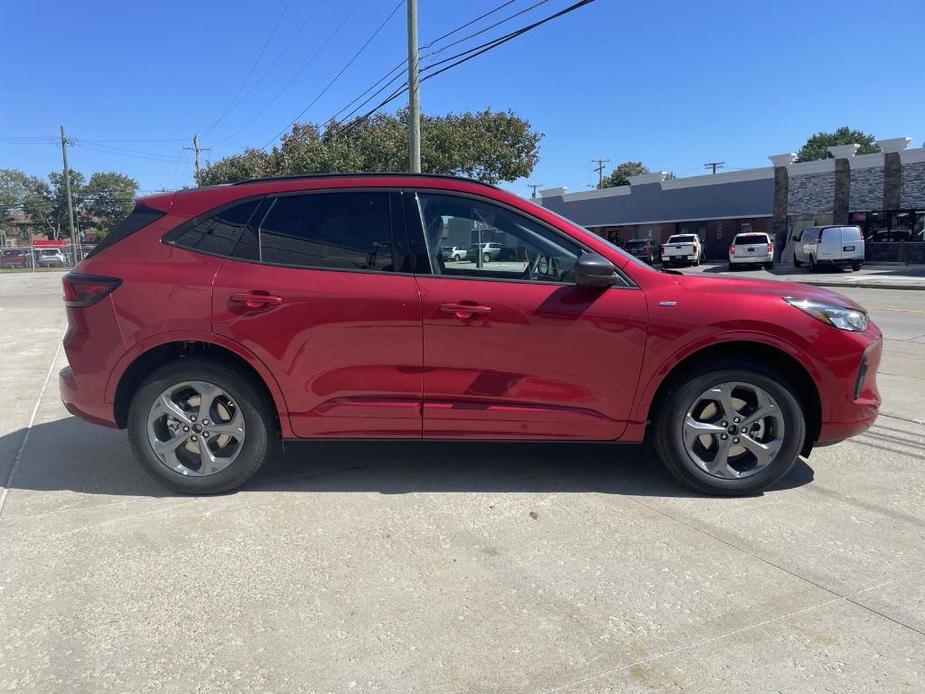
[[[244,414],[227,392],[206,381],[164,390],[148,413],[147,430],[160,462],[191,477],[221,472],[244,446]]]

